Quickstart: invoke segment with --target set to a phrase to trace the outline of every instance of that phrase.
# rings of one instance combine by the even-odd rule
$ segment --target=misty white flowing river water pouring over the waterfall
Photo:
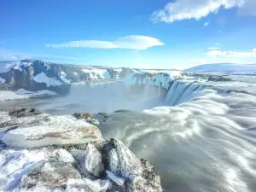
[[[5,102],[3,108],[107,112],[102,137],[116,137],[149,160],[167,192],[253,192],[255,93],[255,84],[238,81],[172,82],[169,90],[152,85],[127,90],[122,82],[76,84],[67,96]]]

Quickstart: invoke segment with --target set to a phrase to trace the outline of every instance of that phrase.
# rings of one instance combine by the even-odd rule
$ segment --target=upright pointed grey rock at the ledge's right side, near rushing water
[[[102,161],[106,170],[128,181],[143,172],[140,160],[123,143],[113,138],[102,147]]]

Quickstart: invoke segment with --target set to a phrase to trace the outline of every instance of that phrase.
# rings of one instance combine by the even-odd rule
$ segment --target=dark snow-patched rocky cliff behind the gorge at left
[[[0,61],[0,90],[51,90],[67,93],[71,83],[122,79],[135,70],[125,67],[83,67],[45,61]]]

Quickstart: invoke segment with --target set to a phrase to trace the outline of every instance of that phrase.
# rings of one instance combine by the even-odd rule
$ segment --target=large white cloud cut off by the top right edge
[[[163,9],[154,11],[151,15],[153,22],[172,23],[176,20],[200,20],[219,9],[238,8],[244,15],[256,15],[255,0],[179,0],[167,3]],[[250,12],[246,10],[250,9]]]

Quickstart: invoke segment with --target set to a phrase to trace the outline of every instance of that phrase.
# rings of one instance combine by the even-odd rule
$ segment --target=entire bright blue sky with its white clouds
[[[3,0],[0,60],[179,68],[256,63],[255,0]]]

